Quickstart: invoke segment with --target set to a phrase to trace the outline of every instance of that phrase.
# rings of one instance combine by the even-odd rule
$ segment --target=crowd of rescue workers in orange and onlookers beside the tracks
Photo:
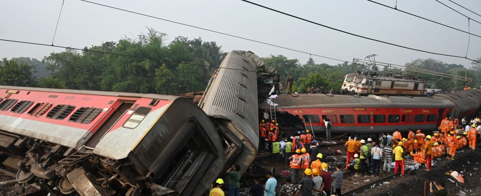
[[[327,122],[324,119],[326,126]],[[347,150],[346,165],[337,164],[335,168],[329,168],[328,164],[322,161],[321,146],[310,130],[297,132],[281,140],[278,126],[273,120],[262,120],[259,123],[260,146],[267,146],[272,153],[273,163],[289,164],[291,176],[286,177],[285,184],[278,186],[273,174],[267,171],[267,182],[264,185],[260,184],[260,179],[254,179],[254,185],[249,191],[252,196],[341,196],[344,171],[352,170],[356,172],[356,176],[377,178],[381,170],[391,172],[394,159],[394,173],[404,176],[404,160],[409,157],[413,157],[415,163],[410,167],[430,171],[433,159],[446,156],[447,159],[454,160],[456,151],[466,146],[475,150],[477,135],[481,132],[480,118],[467,121],[465,117],[461,121],[445,118],[438,131],[433,131],[432,136],[425,135],[421,130],[414,132],[409,128],[405,138],[398,129],[392,133],[380,134],[380,137],[376,138],[377,142],[372,138],[349,138],[344,145]],[[236,165],[227,171],[229,196],[239,196],[238,171],[240,168]],[[434,185],[438,189],[444,189],[444,182]],[[223,192],[219,191],[222,186],[223,180],[217,179],[210,196],[223,196]]]

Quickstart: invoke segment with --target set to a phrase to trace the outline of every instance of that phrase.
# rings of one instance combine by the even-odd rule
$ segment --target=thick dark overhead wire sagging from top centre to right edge
[[[283,15],[286,15],[286,16],[290,16],[290,17],[293,17],[293,18],[296,18],[296,19],[299,19],[299,20],[302,20],[302,21],[305,21],[305,22],[308,22],[308,23],[311,23],[311,24],[314,24],[314,25],[323,26],[323,27],[325,27],[325,28],[329,28],[329,29],[332,29],[332,30],[335,30],[335,31],[343,32],[343,33],[346,33],[346,34],[349,34],[349,35],[352,35],[352,36],[356,36],[356,37],[368,39],[368,40],[371,40],[371,41],[375,41],[375,42],[379,42],[379,43],[383,43],[383,44],[387,44],[387,45],[391,45],[391,46],[397,46],[397,47],[404,48],[404,49],[410,49],[410,50],[425,52],[425,53],[429,53],[429,54],[436,54],[436,55],[441,55],[441,56],[451,56],[451,57],[456,57],[456,58],[463,58],[463,59],[468,59],[468,60],[471,60],[471,61],[474,61],[474,62],[481,63],[480,61],[477,61],[477,60],[474,60],[474,59],[470,59],[470,58],[464,57],[464,56],[458,56],[458,55],[452,55],[452,54],[443,54],[443,53],[431,52],[431,51],[422,50],[422,49],[415,49],[415,48],[410,48],[410,47],[406,47],[406,46],[401,46],[401,45],[398,45],[398,44],[393,44],[393,43],[389,43],[389,42],[386,42],[386,41],[382,41],[382,40],[378,40],[378,39],[374,39],[374,38],[370,38],[370,37],[358,35],[358,34],[351,33],[351,32],[347,32],[347,31],[345,31],[345,30],[337,29],[337,28],[334,28],[334,27],[331,27],[331,26],[322,25],[322,24],[320,24],[320,23],[317,23],[317,22],[314,22],[314,21],[310,21],[310,20],[307,20],[307,19],[304,19],[304,18],[301,18],[301,17],[298,17],[298,16],[294,16],[294,15],[292,15],[292,14],[288,14],[288,13],[285,13],[285,12],[282,12],[282,11],[279,11],[279,10],[276,10],[276,9],[273,9],[273,8],[270,8],[270,7],[261,5],[261,4],[257,4],[257,3],[254,3],[254,2],[248,1],[248,0],[241,0],[241,1],[247,2],[247,3],[253,4],[253,5],[256,5],[256,6],[259,6],[259,7],[262,7],[262,8],[265,8],[265,9],[268,9],[268,10],[271,10],[271,11],[274,11],[274,12],[277,12],[277,13],[280,13],[280,14],[283,14]]]

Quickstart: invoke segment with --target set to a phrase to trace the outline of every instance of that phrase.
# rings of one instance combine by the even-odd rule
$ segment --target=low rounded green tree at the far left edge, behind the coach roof
[[[32,75],[35,72],[35,68],[27,63],[3,58],[0,63],[0,85],[36,86],[36,78]]]

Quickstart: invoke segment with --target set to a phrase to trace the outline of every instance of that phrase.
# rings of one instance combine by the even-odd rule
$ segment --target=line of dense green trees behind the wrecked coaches
[[[135,38],[104,42],[85,47],[84,51],[52,52],[42,61],[28,57],[3,59],[0,61],[0,85],[167,95],[204,90],[226,53],[215,42],[205,42],[201,38],[176,37],[170,43],[166,40],[166,34],[148,29],[148,33]],[[299,93],[321,86],[326,91],[338,91],[347,73],[366,69],[347,62],[316,64],[312,58],[301,64],[298,59],[280,54],[263,60],[278,71],[283,85],[287,74],[292,73],[293,90]],[[464,76],[463,65],[446,64],[435,59],[416,59],[405,66],[450,74],[457,71],[458,75]],[[481,65],[473,64],[473,67],[478,69],[469,70],[467,77],[474,79],[472,87],[479,87]],[[455,89],[451,79],[412,74],[428,80],[429,88]],[[464,85],[458,81],[457,89]]]

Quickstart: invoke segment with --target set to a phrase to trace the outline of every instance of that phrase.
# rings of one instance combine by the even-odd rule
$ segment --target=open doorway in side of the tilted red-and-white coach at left
[[[114,103],[115,104],[115,103]],[[118,103],[117,103],[118,104]],[[100,142],[100,139],[107,133],[108,130],[120,119],[124,114],[134,105],[134,103],[121,102],[113,114],[110,114],[108,120],[94,133],[88,140],[85,147],[93,149]]]

